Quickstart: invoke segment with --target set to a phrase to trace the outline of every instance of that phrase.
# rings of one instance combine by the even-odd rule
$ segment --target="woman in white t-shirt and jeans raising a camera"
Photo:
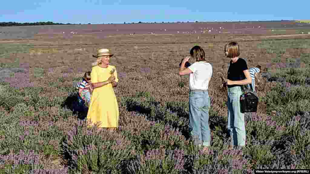
[[[209,127],[210,98],[208,94],[209,81],[212,76],[212,66],[206,62],[205,52],[200,46],[194,46],[190,55],[183,59],[179,75],[189,74],[189,129],[195,142],[207,151],[211,144]],[[190,58],[195,63],[185,67]]]

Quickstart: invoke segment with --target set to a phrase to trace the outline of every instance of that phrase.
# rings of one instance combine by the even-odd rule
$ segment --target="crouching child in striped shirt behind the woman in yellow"
[[[78,94],[80,102],[87,102],[89,104],[91,102],[91,92],[91,72],[88,71],[79,82]]]

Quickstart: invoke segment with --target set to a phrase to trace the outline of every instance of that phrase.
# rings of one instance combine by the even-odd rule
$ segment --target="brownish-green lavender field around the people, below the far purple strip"
[[[241,174],[310,168],[310,35],[90,34],[68,40],[54,34],[0,40],[0,174]],[[265,82],[257,113],[246,114],[242,149],[228,147],[227,91],[214,81],[217,72],[227,75],[224,45],[229,41],[239,43],[248,67],[263,67]],[[179,62],[194,45],[205,50],[214,72],[207,154],[189,137],[188,76],[178,75]],[[115,54],[110,59],[119,78],[115,132],[90,127],[71,110],[73,82],[91,70],[91,55],[99,48]]]

